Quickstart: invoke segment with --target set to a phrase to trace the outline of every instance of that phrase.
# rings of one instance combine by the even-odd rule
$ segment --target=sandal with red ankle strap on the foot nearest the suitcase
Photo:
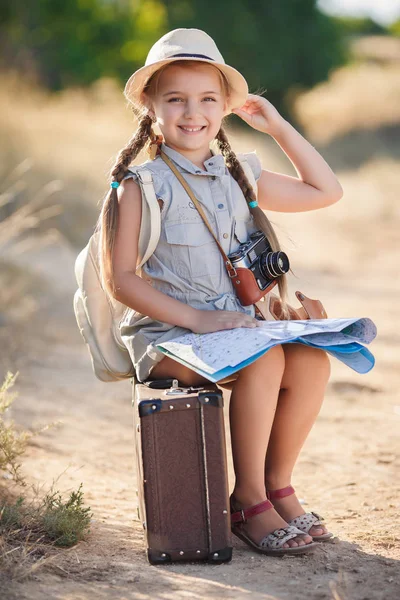
[[[230,497],[231,507],[231,530],[242,542],[245,542],[249,546],[252,546],[262,554],[268,556],[282,556],[284,554],[305,554],[315,547],[314,542],[305,544],[304,546],[295,546],[293,548],[284,548],[283,545],[289,540],[293,540],[299,536],[306,536],[303,531],[293,525],[275,529],[271,533],[268,533],[263,539],[257,544],[252,540],[243,530],[243,524],[247,520],[265,510],[273,508],[273,504],[269,500],[264,500],[259,504],[254,504],[249,508],[238,508],[236,506],[237,501],[233,495]]]

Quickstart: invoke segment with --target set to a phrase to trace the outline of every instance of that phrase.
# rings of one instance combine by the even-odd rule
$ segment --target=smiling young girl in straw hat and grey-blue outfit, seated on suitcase
[[[111,171],[102,208],[103,278],[109,292],[131,309],[121,334],[138,380],[172,377],[201,385],[207,380],[165,357],[156,344],[189,330],[256,327],[260,320],[254,306],[240,304],[215,240],[163,153],[193,189],[227,254],[257,229],[279,249],[263,210],[323,208],[337,202],[342,189],[323,158],[268,100],[248,93],[243,76],[225,64],[203,31],[177,29],[163,36],[146,65],[129,79],[125,94],[139,123]],[[256,195],[222,127],[231,112],[272,136],[298,177],[264,170],[255,153],[246,154],[258,184]],[[153,132],[155,123],[162,138]],[[158,145],[146,167],[160,204],[161,236],[140,277],[135,272],[141,224],[138,167],[127,169],[149,141],[153,149]],[[210,149],[213,141],[219,153]],[[283,300],[285,288],[281,276]],[[329,374],[324,351],[288,344],[243,368],[231,384],[232,531],[265,554],[306,552],[313,541],[332,535],[318,515],[304,513],[290,485]]]

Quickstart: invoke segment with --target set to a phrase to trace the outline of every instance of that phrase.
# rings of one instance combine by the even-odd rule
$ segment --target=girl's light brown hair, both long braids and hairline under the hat
[[[173,65],[181,65],[181,66],[198,66],[198,61],[174,61]],[[157,70],[147,81],[144,89],[143,96],[144,97],[154,97],[157,93],[158,80],[159,77],[166,68],[170,65],[164,65],[159,70]],[[215,69],[220,77],[223,90],[225,92],[225,98],[229,98],[229,84],[223,75],[223,73],[213,65],[207,63],[207,66]],[[139,152],[144,148],[147,142],[151,143],[156,140],[156,134],[153,131],[152,125],[153,121],[151,117],[147,114],[146,108],[143,104],[134,105],[133,111],[138,117],[138,128],[136,130],[135,135],[129,140],[128,144],[125,148],[123,148],[118,154],[115,165],[111,169],[110,177],[112,181],[116,181],[120,183],[132,161],[135,160]],[[225,117],[224,117],[225,118]],[[216,143],[219,151],[224,157],[225,164],[232,175],[232,177],[237,181],[240,189],[243,192],[244,197],[246,198],[247,203],[252,200],[256,200],[256,194],[254,189],[250,185],[249,180],[246,177],[246,174],[236,156],[234,151],[232,150],[227,134],[224,128],[221,125],[220,130],[216,135]],[[275,231],[266,217],[265,213],[261,210],[260,207],[250,208],[249,211],[253,216],[254,224],[258,229],[260,229],[265,235],[271,245],[271,248],[274,252],[280,250],[280,245],[278,238],[275,234]],[[117,190],[115,188],[110,188],[107,196],[104,199],[103,206],[101,209],[100,217],[97,224],[97,230],[100,231],[100,271],[101,277],[103,281],[103,286],[109,294],[113,295],[115,293],[114,286],[114,277],[113,277],[113,254],[114,254],[114,246],[115,246],[115,236],[118,227],[118,195]],[[285,318],[288,317],[287,307],[286,307],[286,298],[287,298],[287,279],[285,275],[281,275],[278,279],[278,288],[281,296],[281,300],[283,303],[282,309]]]

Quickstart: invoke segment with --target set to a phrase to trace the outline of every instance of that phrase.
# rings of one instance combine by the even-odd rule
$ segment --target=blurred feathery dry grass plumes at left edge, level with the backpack
[[[9,359],[18,354],[26,338],[24,327],[38,309],[46,284],[29,268],[18,264],[18,257],[33,249],[54,244],[60,233],[55,219],[62,206],[53,202],[62,189],[50,181],[31,193],[26,177],[32,161],[26,159],[3,174],[0,181],[0,367],[10,368]]]

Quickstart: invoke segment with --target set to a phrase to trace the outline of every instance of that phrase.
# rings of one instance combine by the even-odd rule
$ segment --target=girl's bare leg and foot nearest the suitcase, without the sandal
[[[232,457],[236,483],[233,494],[240,507],[246,508],[266,500],[265,454],[274,421],[285,358],[276,346],[256,362],[239,372],[230,400]],[[271,509],[249,519],[245,524],[255,542],[287,522]],[[311,537],[290,540],[286,547],[304,545]]]

